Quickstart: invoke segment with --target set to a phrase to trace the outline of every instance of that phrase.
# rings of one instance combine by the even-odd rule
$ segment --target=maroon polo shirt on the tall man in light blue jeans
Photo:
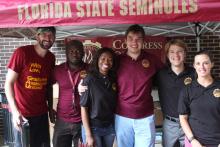
[[[162,64],[156,56],[142,51],[137,60],[120,55],[116,114],[143,118],[153,114],[152,77]]]

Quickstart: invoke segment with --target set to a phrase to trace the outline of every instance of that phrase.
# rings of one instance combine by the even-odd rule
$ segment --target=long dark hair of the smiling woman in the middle
[[[118,64],[116,61],[116,54],[111,48],[108,48],[108,47],[103,47],[96,52],[93,58],[93,61],[92,61],[90,73],[95,76],[100,75],[98,62],[99,62],[100,56],[103,53],[110,53],[112,55],[113,64],[112,64],[112,68],[108,72],[108,77],[111,81],[116,81],[116,72],[118,68]]]

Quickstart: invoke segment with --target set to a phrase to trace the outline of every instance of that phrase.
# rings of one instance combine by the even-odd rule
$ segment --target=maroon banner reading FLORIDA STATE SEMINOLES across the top
[[[0,28],[220,21],[219,0],[0,1]]]

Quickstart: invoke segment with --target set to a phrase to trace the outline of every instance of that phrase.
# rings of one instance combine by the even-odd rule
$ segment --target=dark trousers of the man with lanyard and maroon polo
[[[54,147],[74,147],[78,146],[81,138],[81,122],[70,123],[57,119],[54,126],[53,146]]]

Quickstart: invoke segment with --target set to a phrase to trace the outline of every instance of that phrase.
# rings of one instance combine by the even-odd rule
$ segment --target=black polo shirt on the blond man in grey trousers
[[[194,79],[194,68],[185,66],[185,70],[176,75],[171,67],[164,67],[156,75],[155,84],[158,87],[158,94],[162,112],[164,115],[179,117],[177,111],[180,90]]]

